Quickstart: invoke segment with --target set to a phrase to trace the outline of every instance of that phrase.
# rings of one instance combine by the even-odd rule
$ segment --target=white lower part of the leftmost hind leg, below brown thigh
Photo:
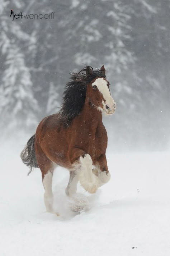
[[[53,193],[52,193],[52,172],[48,171],[43,178],[44,203],[46,205],[47,212],[52,212],[53,205]]]

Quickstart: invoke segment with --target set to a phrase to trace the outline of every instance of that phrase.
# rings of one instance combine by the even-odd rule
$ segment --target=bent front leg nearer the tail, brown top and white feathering
[[[92,172],[92,159],[89,154],[80,148],[74,148],[70,151],[70,161],[75,165],[76,173],[79,177],[80,184],[89,193],[95,193],[102,183]]]

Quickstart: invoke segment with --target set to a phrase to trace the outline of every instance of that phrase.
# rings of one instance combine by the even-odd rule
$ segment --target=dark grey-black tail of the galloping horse
[[[34,148],[35,136],[36,135],[34,134],[32,137],[30,137],[27,145],[20,154],[23,163],[30,168],[28,175],[32,172],[33,168],[38,168],[36,152]]]

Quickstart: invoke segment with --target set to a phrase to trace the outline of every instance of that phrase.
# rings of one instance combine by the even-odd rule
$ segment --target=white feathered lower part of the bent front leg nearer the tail
[[[84,157],[80,156],[79,179],[82,187],[89,193],[95,193],[101,183],[98,177],[92,172],[92,163],[89,154],[86,154]]]

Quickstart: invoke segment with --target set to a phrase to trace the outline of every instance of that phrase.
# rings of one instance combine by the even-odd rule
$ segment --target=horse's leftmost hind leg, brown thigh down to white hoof
[[[35,144],[38,166],[42,173],[42,182],[45,189],[44,203],[47,212],[53,212],[52,176],[54,170],[53,162],[44,154],[41,147]]]

